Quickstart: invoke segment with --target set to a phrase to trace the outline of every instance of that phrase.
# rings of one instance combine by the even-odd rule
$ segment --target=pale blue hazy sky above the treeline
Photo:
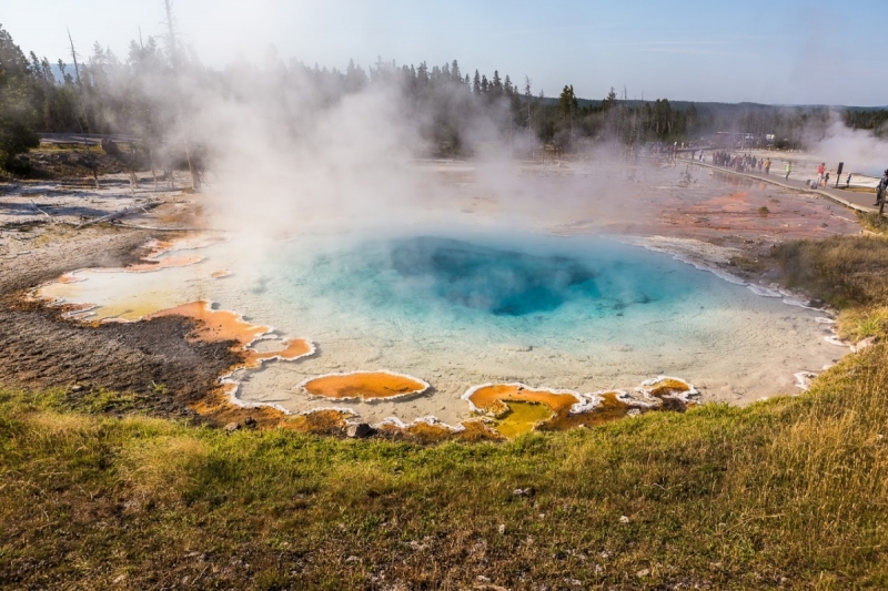
[[[888,104],[888,0],[173,0],[181,40],[206,64],[284,61],[344,70],[377,58],[458,60],[557,96],[614,86],[629,99]],[[70,62],[97,41],[125,58],[162,35],[162,0],[0,0],[26,52]]]

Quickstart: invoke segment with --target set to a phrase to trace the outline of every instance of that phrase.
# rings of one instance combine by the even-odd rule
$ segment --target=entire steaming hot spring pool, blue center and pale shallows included
[[[163,257],[183,266],[81,271],[40,295],[91,304],[92,319],[135,320],[199,299],[236,310],[316,347],[240,370],[239,399],[292,411],[350,408],[369,422],[434,416],[455,425],[472,416],[461,396],[484,384],[595,393],[672,375],[695,384],[704,401],[745,403],[798,391],[794,374],[841,354],[824,339],[823,313],[604,237],[312,235],[260,249],[233,238]],[[254,345],[275,347],[280,340]],[[370,401],[305,390],[321,376],[375,370],[430,387]]]

